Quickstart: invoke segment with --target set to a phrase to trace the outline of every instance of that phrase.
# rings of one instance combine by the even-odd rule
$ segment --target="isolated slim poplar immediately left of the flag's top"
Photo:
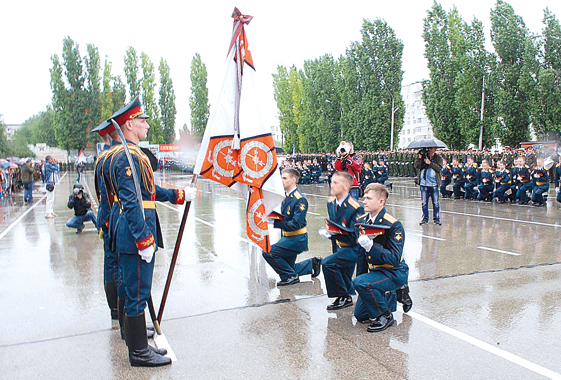
[[[202,138],[210,115],[208,102],[207,71],[199,53],[191,60],[191,134]]]

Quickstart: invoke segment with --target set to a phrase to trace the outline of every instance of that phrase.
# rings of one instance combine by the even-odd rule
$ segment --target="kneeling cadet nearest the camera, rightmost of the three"
[[[383,235],[373,240],[367,235],[358,238],[369,271],[358,274],[353,280],[358,292],[354,314],[359,322],[370,322],[368,332],[383,331],[394,323],[392,311],[396,310],[398,298],[403,303],[404,312],[413,306],[407,286],[409,267],[403,260],[405,231],[401,222],[386,212],[387,198],[385,186],[368,185],[364,191],[367,213],[358,218],[361,223],[387,228]]]

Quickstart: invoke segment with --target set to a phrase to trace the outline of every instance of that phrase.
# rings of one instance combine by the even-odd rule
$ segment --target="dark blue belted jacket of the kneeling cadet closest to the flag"
[[[281,214],[284,219],[275,220],[275,228],[282,230],[282,237],[276,246],[298,253],[308,250],[307,212],[308,200],[296,188],[282,202]]]

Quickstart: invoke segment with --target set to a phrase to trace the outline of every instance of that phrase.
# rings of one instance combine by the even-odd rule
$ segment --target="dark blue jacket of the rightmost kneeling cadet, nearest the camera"
[[[357,222],[367,223],[369,214],[361,215]],[[389,226],[383,235],[376,236],[370,251],[365,251],[366,261],[370,272],[381,271],[392,280],[405,284],[409,275],[409,267],[403,260],[403,246],[405,231],[403,225],[392,215],[382,211],[376,216],[376,224]]]

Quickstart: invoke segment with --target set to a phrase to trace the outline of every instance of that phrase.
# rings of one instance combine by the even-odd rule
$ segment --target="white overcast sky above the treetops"
[[[534,33],[543,29],[546,6],[561,17],[559,0],[512,0],[515,12]],[[266,121],[278,124],[271,74],[277,65],[296,65],[324,54],[338,57],[360,38],[362,19],[382,18],[404,42],[403,84],[428,77],[423,57],[423,18],[431,0],[411,1],[3,1],[0,5],[0,114],[7,124],[24,122],[50,103],[51,55],[62,54],[70,36],[80,45],[96,45],[103,74],[105,57],[113,74],[123,74],[129,46],[148,54],[157,70],[167,60],[176,94],[176,126],[190,125],[190,67],[201,54],[208,70],[212,107],[224,75],[235,6],[254,16],[246,27],[249,48],[263,91]],[[495,1],[440,1],[448,11],[454,4],[463,19],[481,20],[489,41],[490,10]],[[159,75],[156,74],[158,78]],[[159,85],[158,85],[159,86]]]

